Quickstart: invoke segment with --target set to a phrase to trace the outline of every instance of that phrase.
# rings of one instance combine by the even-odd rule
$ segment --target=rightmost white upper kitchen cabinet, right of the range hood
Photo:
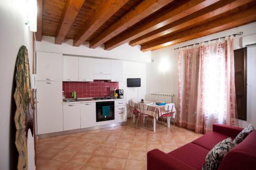
[[[123,61],[111,60],[111,81],[122,82],[123,81]]]

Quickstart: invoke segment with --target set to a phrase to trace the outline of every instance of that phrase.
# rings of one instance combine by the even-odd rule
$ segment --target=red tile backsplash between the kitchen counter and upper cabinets
[[[77,98],[98,98],[110,95],[110,87],[118,89],[118,82],[94,80],[93,82],[62,82],[62,90],[66,99],[72,98],[72,91],[76,91]]]

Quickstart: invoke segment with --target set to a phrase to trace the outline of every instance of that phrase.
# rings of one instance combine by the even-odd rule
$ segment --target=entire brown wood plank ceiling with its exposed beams
[[[152,51],[256,21],[256,0],[38,0],[36,40]]]

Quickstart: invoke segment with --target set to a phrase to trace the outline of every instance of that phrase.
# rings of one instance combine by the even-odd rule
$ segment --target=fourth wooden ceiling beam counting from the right
[[[133,26],[135,23],[141,19],[147,17],[148,15],[154,13],[160,8],[164,7],[173,0],[144,0],[138,6],[127,12],[123,17],[121,17],[117,22],[105,30],[95,39],[90,42],[91,48],[96,48],[97,46],[108,41],[112,37],[126,30],[127,28]]]

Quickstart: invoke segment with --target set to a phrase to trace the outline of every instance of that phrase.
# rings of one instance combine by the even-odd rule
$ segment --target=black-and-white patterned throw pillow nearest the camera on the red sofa
[[[205,158],[205,163],[203,164],[202,170],[215,170],[218,169],[222,159],[232,149],[236,144],[233,143],[232,139],[229,137],[217,143],[214,148],[212,148]]]

